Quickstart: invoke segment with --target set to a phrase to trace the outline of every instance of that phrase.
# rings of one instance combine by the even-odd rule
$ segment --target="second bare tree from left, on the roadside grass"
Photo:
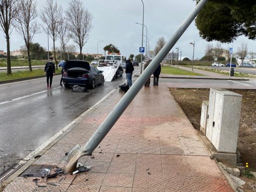
[[[34,0],[19,0],[18,6],[19,12],[15,18],[15,27],[25,41],[25,45],[27,47],[29,69],[32,71],[30,46],[34,34],[39,30],[39,26],[37,25],[36,21],[34,21],[37,17],[36,2]]]

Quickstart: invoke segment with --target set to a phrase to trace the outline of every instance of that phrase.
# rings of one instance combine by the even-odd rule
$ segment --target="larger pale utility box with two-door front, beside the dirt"
[[[210,89],[206,136],[218,152],[236,153],[242,96]]]

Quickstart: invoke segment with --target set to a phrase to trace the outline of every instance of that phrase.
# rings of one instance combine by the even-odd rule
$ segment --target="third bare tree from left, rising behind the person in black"
[[[60,27],[61,19],[62,19],[62,6],[58,5],[58,3],[54,0],[46,0],[45,6],[41,10],[40,17],[43,23],[46,25],[43,29],[46,33],[49,32],[52,40],[53,40],[53,54],[54,60],[56,64],[56,69],[58,70],[56,51],[55,51],[55,41],[58,38],[58,29]]]

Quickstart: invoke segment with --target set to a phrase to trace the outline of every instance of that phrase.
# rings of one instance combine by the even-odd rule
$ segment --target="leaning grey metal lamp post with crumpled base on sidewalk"
[[[148,67],[143,71],[143,73],[138,77],[134,84],[130,87],[128,92],[122,97],[122,99],[117,103],[114,109],[110,112],[104,122],[97,128],[95,133],[89,139],[85,145],[76,145],[66,156],[64,170],[66,173],[71,173],[75,170],[77,160],[82,156],[92,155],[93,151],[103,140],[110,129],[115,125],[119,117],[128,107],[132,99],[138,94],[140,89],[143,87],[144,83],[152,75],[152,73],[157,69],[160,62],[164,59],[167,53],[179,40],[181,35],[186,31],[189,25],[192,23],[193,19],[196,17],[198,12],[203,8],[207,0],[200,0],[196,7],[192,10],[190,15],[185,19],[181,26],[174,32],[171,38],[165,43],[160,52],[156,55],[153,61],[148,65]]]

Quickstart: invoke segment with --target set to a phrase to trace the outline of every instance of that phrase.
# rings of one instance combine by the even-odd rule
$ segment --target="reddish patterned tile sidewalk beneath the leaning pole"
[[[122,96],[116,91],[34,164],[63,167],[65,152],[85,144]],[[93,157],[79,160],[89,172],[48,179],[58,186],[17,177],[4,192],[232,192],[167,84],[143,87]]]

